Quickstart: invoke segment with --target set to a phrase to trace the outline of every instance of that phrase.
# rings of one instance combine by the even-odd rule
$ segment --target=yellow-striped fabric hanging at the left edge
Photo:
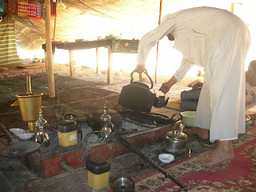
[[[15,34],[14,23],[0,25],[0,66],[20,63]]]

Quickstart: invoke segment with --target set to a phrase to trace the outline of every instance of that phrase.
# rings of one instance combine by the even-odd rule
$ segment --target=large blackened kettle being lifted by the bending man
[[[149,74],[144,71],[146,76],[150,79],[151,86],[149,87],[143,82],[134,82],[134,72],[135,71],[130,74],[130,85],[122,87],[118,104],[126,109],[137,112],[150,112],[155,98],[155,95],[150,91],[150,89],[153,88],[153,81]]]

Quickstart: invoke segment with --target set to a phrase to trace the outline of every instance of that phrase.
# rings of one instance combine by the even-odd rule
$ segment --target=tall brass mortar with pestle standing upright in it
[[[41,109],[42,95],[32,94],[30,74],[26,75],[26,94],[17,94],[19,110],[22,114],[22,121],[28,122],[29,133],[37,133],[36,121],[39,118],[39,110]]]

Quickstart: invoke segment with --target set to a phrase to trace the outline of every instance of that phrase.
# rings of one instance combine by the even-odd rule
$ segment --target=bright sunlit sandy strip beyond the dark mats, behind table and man
[[[22,64],[22,65],[14,65],[14,66],[6,66],[9,70],[17,70],[17,66],[26,67],[26,69],[22,70],[42,70],[46,71],[46,64],[45,62],[33,62],[30,64]],[[85,81],[92,81],[92,82],[104,82],[106,83],[106,70],[100,71],[99,74],[96,74],[96,70],[94,68],[86,67],[86,66],[74,66],[75,73],[73,78],[82,79]],[[19,69],[21,70],[21,69]],[[54,73],[57,73],[62,76],[70,76],[70,66],[67,64],[54,64]],[[130,73],[131,71],[113,71],[113,84],[103,86],[102,89],[112,90],[114,92],[120,93],[122,90],[122,86],[126,86],[130,83]],[[154,74],[150,74],[154,82],[154,87],[151,90],[152,92],[162,95],[162,92],[158,91],[162,82],[166,82],[170,79],[169,76],[166,75],[158,75],[157,82],[155,82]],[[181,82],[176,83],[169,93],[166,94],[166,97],[172,100],[178,100],[180,93],[182,90],[190,90],[191,88],[188,87],[190,82],[195,80],[200,80],[203,82],[203,78],[199,76],[194,77],[186,77]],[[138,81],[138,74],[134,74],[134,81]],[[142,81],[145,82],[147,85],[150,86],[150,80],[146,77],[145,74],[142,74]]]

